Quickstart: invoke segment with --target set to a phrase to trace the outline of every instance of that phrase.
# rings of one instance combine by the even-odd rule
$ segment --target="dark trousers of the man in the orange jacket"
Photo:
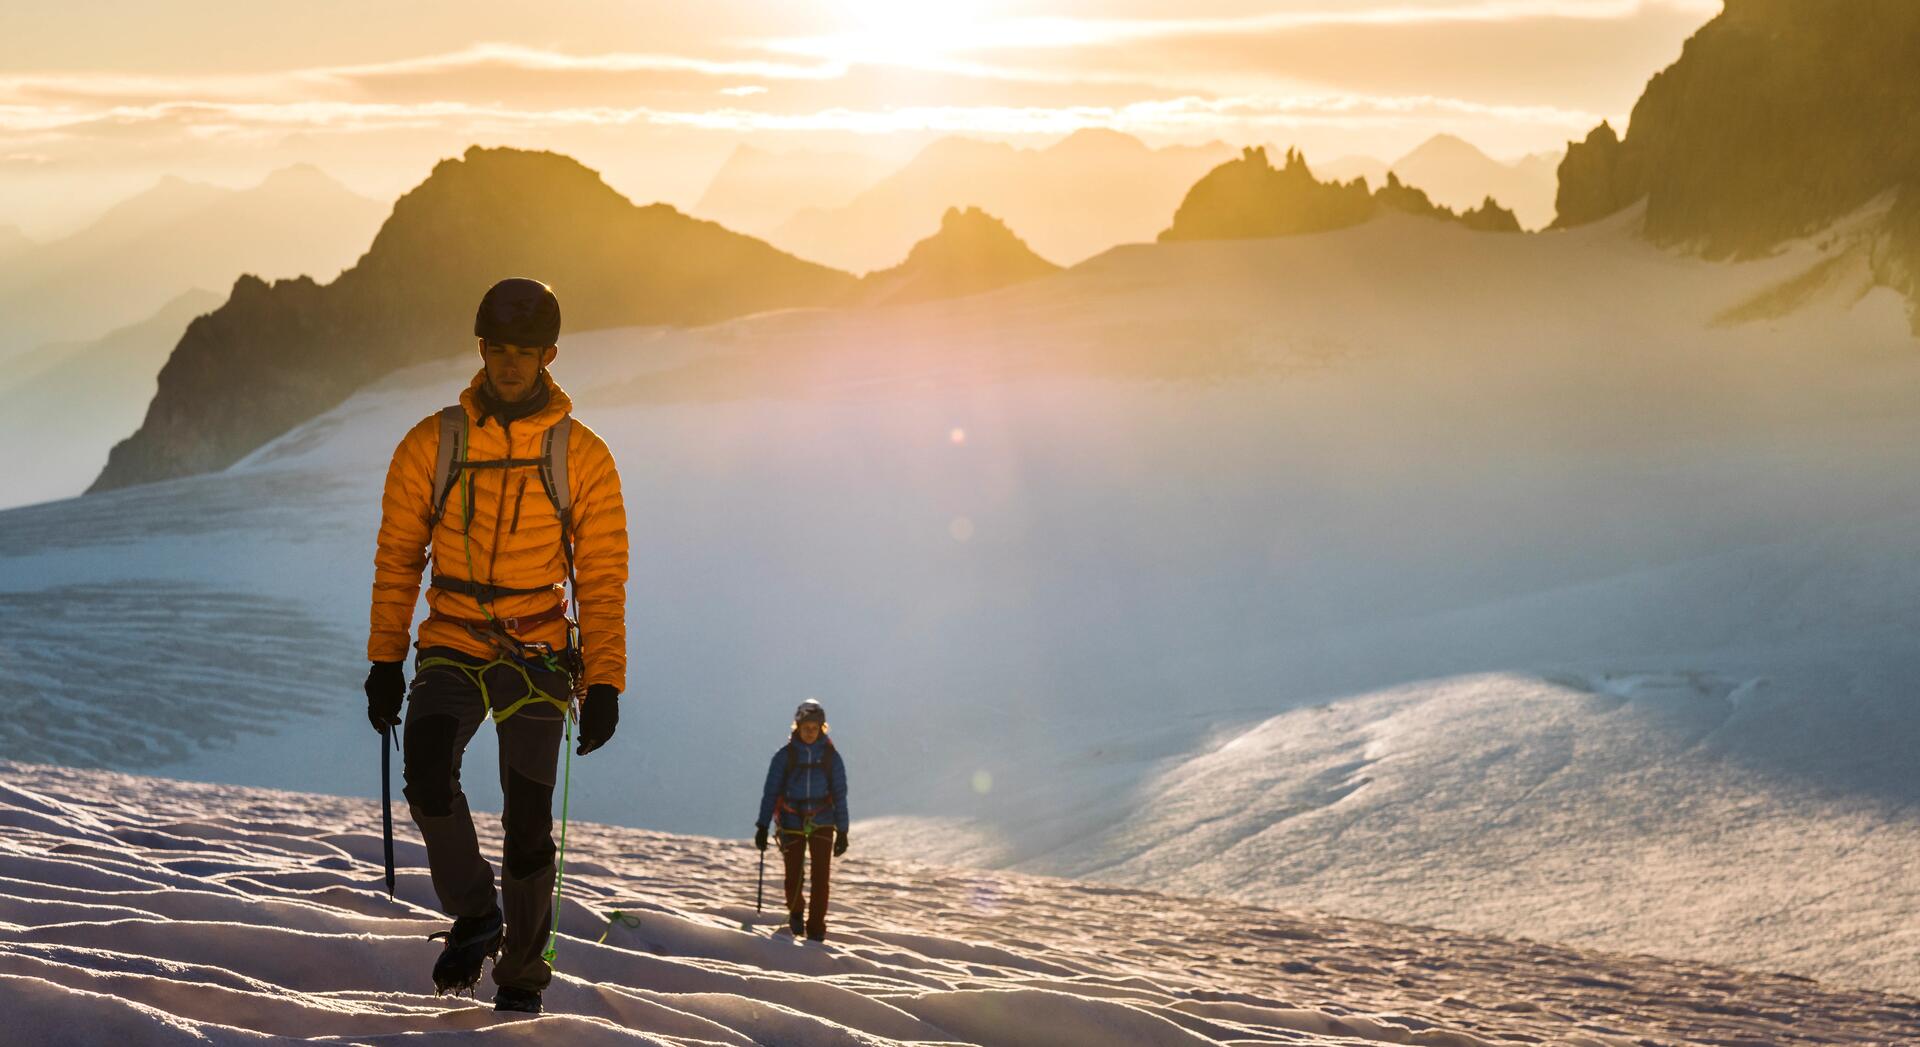
[[[426,647],[419,661],[445,657],[480,667],[486,659]],[[564,672],[532,670],[534,686],[566,701]],[[505,709],[526,695],[520,672],[495,665],[484,672],[493,709]],[[461,755],[480,722],[486,701],[472,676],[432,667],[415,670],[407,695],[405,780],[407,809],[426,841],[426,864],[434,893],[449,916],[484,916],[495,909],[493,866],[480,857],[474,820],[461,791]],[[505,895],[507,941],[493,962],[493,984],[515,989],[545,989],[553,970],[541,957],[553,926],[553,782],[561,755],[566,715],[545,701],[522,705],[499,722],[499,791],[505,797],[501,828],[501,893]]]

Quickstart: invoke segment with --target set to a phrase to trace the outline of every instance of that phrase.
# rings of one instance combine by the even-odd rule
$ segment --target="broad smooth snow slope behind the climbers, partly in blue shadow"
[[[741,834],[818,695],[864,847],[1920,987],[1905,305],[1728,327],[1851,246],[1630,221],[566,338],[634,542],[576,813]],[[380,478],[470,367],[0,513],[0,755],[369,795]]]

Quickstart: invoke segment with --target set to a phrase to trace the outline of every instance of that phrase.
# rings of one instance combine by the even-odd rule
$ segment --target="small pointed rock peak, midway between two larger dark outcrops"
[[[960,298],[1058,273],[1033,254],[1000,219],[979,207],[948,207],[941,229],[914,244],[906,261],[868,273],[856,300],[862,305],[902,305],[931,298]]]

